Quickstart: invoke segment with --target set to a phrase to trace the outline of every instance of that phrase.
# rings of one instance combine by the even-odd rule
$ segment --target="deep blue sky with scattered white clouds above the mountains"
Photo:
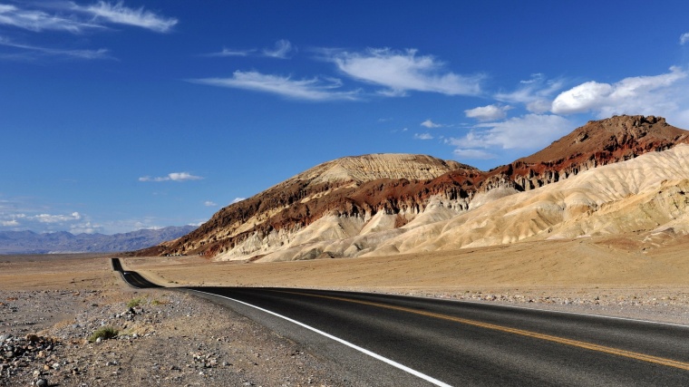
[[[685,1],[0,0],[0,230],[199,224],[327,160],[689,129]]]

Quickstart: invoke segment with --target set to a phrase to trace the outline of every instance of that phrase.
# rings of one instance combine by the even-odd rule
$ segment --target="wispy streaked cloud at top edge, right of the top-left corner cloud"
[[[74,3],[72,5],[72,8],[76,11],[93,15],[95,21],[104,19],[109,23],[133,25],[158,33],[169,32],[178,22],[173,17],[163,17],[150,11],[145,11],[143,7],[139,9],[126,7],[122,2],[111,4],[100,1],[95,5],[81,6]]]

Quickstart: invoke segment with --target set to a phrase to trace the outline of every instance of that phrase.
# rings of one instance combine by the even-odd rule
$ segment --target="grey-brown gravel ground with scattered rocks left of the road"
[[[247,317],[170,290],[0,292],[0,385],[349,385]],[[117,336],[93,341],[112,328]],[[91,340],[90,340],[91,338]]]

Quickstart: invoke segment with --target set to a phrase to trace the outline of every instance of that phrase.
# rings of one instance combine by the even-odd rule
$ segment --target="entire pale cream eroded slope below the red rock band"
[[[403,227],[394,227],[396,215],[382,213],[372,219],[320,218],[259,260],[386,256],[664,227],[684,232],[686,192],[689,146],[678,145],[540,189],[503,189],[460,214],[437,199]]]

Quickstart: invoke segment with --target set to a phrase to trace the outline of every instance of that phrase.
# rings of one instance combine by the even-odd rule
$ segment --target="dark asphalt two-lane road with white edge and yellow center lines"
[[[184,291],[204,292],[327,359],[342,358],[359,381],[352,385],[689,385],[687,326],[354,292]]]

